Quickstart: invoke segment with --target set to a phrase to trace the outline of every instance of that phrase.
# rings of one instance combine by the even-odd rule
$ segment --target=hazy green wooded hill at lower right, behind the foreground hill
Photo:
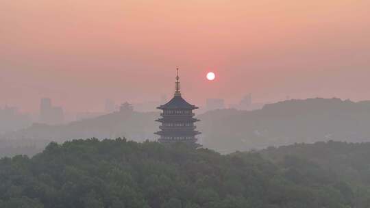
[[[353,190],[353,207],[370,207],[370,142],[316,142],[269,147],[258,154],[276,166],[285,168],[295,183],[309,183],[310,177],[319,180],[335,177]],[[250,153],[235,153],[249,158]]]

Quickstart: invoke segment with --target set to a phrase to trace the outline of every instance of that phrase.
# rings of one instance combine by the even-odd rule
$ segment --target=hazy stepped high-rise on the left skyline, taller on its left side
[[[53,107],[51,99],[44,98],[40,102],[40,122],[56,125],[64,121],[64,112],[62,107]]]

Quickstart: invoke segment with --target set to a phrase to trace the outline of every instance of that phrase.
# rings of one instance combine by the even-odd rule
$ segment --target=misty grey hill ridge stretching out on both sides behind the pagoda
[[[158,112],[114,112],[66,125],[36,124],[0,136],[0,156],[40,152],[49,142],[78,138],[155,140]],[[370,141],[370,101],[340,99],[291,100],[263,109],[220,109],[198,115],[201,144],[221,153],[281,146],[295,142]],[[6,147],[5,147],[6,146]]]

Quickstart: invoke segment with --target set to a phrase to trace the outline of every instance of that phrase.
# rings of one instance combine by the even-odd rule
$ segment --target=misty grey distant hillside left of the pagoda
[[[0,157],[16,154],[39,153],[49,142],[64,142],[79,138],[117,138],[126,137],[143,142],[154,140],[157,131],[154,120],[158,113],[114,112],[71,122],[66,125],[41,125],[6,133],[0,138]]]

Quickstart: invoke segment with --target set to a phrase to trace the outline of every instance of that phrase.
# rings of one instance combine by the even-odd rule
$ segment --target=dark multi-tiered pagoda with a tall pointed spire
[[[177,69],[176,90],[173,99],[157,107],[163,112],[160,114],[162,118],[156,120],[162,123],[159,127],[161,131],[155,134],[160,135],[158,140],[160,143],[186,142],[198,146],[196,144],[197,138],[195,138],[195,135],[198,135],[200,132],[195,131],[197,127],[194,123],[199,120],[193,118],[193,116],[195,116],[193,110],[198,109],[198,107],[190,105],[182,98],[179,79],[179,70]]]

